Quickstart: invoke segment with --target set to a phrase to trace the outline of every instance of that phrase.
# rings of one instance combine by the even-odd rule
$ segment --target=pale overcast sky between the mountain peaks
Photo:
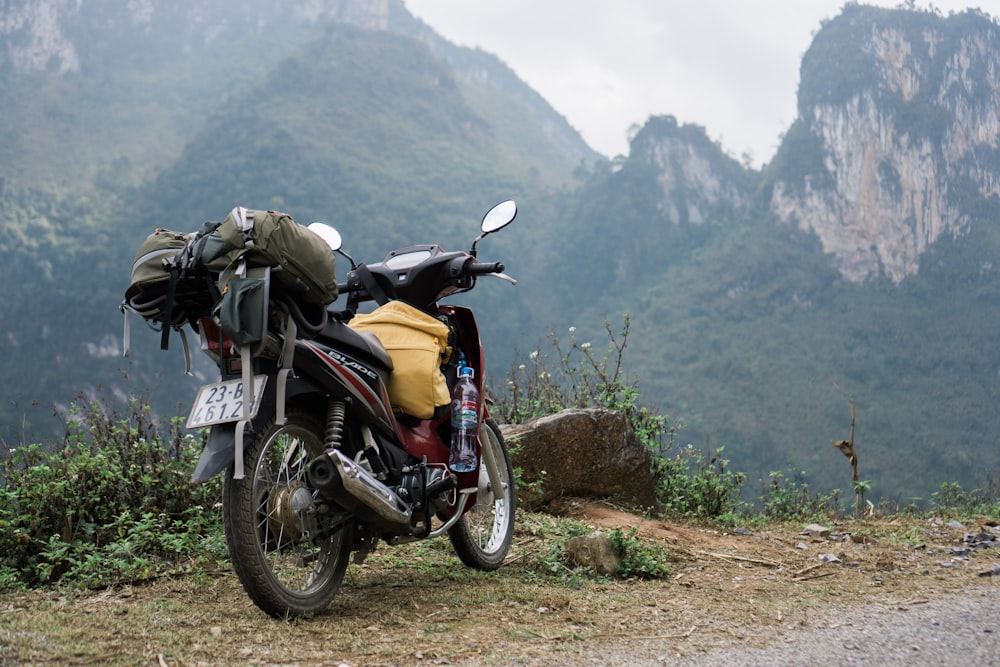
[[[995,0],[935,0],[942,14]],[[799,64],[844,0],[404,0],[445,39],[496,55],[595,150],[669,114],[733,157],[769,161],[795,119]],[[864,4],[896,7],[901,0]],[[926,7],[918,0],[917,7]],[[995,13],[995,12],[991,12]]]

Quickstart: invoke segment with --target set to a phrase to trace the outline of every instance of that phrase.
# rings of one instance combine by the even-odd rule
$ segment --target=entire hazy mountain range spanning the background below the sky
[[[1000,471],[1000,27],[982,12],[845,6],[758,171],[669,115],[607,162],[398,0],[29,5],[0,0],[8,443],[48,436],[78,391],[124,396],[123,373],[165,410],[211,379],[138,322],[121,358],[117,305],[155,227],[277,208],[375,261],[467,247],[514,197],[480,250],[521,284],[469,298],[494,379],[549,331],[600,346],[629,313],[645,401],[752,486],[804,470],[849,495],[830,442],[851,401],[876,496]]]

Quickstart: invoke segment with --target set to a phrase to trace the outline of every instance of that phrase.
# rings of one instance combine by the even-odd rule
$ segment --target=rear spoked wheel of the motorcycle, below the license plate
[[[244,451],[245,477],[226,475],[229,556],[254,604],[275,617],[315,614],[333,599],[350,556],[350,529],[317,515],[306,466],[323,453],[321,426],[290,412]]]

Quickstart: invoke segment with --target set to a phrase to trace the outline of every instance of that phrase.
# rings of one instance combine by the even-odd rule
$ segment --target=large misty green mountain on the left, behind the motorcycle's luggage
[[[398,0],[41,0],[0,17],[10,442],[49,435],[50,406],[78,391],[123,396],[127,379],[174,409],[204,380],[179,377],[181,351],[145,327],[122,359],[118,304],[155,227],[240,203],[335,223],[369,261],[392,243],[467,247],[490,205],[540,200],[599,158],[503,63]]]

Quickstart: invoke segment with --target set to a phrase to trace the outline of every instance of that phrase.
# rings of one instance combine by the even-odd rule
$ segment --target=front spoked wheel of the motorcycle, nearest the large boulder
[[[514,469],[500,429],[492,419],[480,425],[479,441],[483,461],[476,504],[448,531],[448,537],[463,563],[479,570],[495,570],[503,564],[514,538]],[[496,463],[499,486],[491,483],[486,470],[491,458]]]

